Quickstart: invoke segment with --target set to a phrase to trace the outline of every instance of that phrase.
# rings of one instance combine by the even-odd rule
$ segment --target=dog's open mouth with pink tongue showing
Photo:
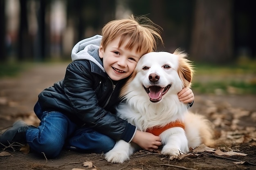
[[[148,88],[146,88],[145,86],[143,87],[145,88],[145,91],[148,93],[150,101],[156,103],[162,100],[162,96],[169,90],[171,84],[164,88],[160,86],[150,86]]]

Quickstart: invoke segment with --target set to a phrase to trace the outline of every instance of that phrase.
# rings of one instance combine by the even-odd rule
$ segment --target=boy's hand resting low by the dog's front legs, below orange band
[[[137,130],[132,141],[139,145],[141,148],[152,152],[154,149],[158,149],[161,145],[161,139],[159,136],[155,136],[149,132],[142,132]]]

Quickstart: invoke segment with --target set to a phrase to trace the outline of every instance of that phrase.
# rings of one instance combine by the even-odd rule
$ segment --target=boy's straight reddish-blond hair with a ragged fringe
[[[163,44],[159,29],[162,28],[145,16],[131,15],[129,19],[112,20],[102,29],[101,46],[105,51],[107,44],[120,36],[119,46],[129,40],[128,50],[136,48],[137,53],[146,54],[156,50],[158,39]]]

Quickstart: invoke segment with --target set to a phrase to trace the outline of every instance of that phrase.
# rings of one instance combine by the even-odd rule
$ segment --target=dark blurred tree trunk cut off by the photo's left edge
[[[5,0],[0,0],[0,61],[6,60],[6,44],[5,44]]]

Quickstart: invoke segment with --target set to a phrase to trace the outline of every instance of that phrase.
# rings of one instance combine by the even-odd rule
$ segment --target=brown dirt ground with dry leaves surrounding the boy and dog
[[[0,79],[0,128],[17,119],[38,124],[33,107],[44,88],[63,78],[67,64],[36,64],[16,78]],[[195,94],[191,111],[215,125],[216,146],[171,159],[155,152],[135,152],[130,161],[108,163],[101,154],[63,150],[47,159],[26,150],[0,149],[0,170],[256,170],[256,96]],[[26,148],[26,147],[22,147]],[[221,150],[221,153],[217,153]],[[92,168],[83,162],[92,163]]]

